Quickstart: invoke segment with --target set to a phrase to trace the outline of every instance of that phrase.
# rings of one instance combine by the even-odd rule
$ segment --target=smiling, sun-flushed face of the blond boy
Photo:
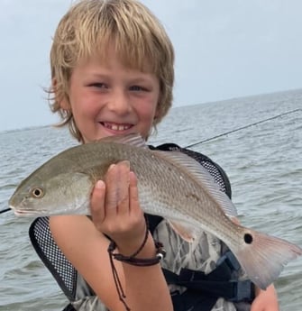
[[[69,103],[84,142],[126,133],[147,138],[157,113],[159,79],[150,73],[124,68],[114,53],[106,62],[91,57],[78,63],[69,83]]]

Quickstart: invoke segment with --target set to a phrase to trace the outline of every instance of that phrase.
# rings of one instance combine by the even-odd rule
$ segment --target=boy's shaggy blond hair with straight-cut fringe
[[[93,53],[105,60],[113,43],[124,65],[155,74],[160,81],[158,114],[160,123],[172,103],[174,50],[167,33],[151,11],[135,0],[81,0],[71,6],[55,32],[50,50],[50,109],[59,112],[59,126],[69,125],[70,133],[82,142],[71,110],[60,107],[69,102],[69,81],[80,59]]]

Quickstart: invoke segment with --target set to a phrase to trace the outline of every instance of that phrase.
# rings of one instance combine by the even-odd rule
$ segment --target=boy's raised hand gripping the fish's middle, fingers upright
[[[131,255],[141,246],[146,224],[139,204],[137,179],[128,161],[111,165],[105,181],[96,183],[91,215],[97,230],[114,240],[119,252]]]

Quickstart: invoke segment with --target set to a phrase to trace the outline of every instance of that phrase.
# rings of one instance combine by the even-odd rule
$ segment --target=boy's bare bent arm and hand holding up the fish
[[[117,252],[130,255],[140,248],[146,232],[136,179],[132,173],[130,175],[129,168],[116,164],[115,169],[107,173],[105,185],[95,188],[91,211],[96,226],[83,215],[50,217],[50,231],[60,250],[112,311],[124,311],[125,308],[114,282],[107,252],[110,241],[105,234],[116,242]],[[137,258],[153,258],[155,252],[149,233]],[[173,310],[160,264],[136,267],[114,260],[114,267],[124,289],[124,301],[132,310]]]

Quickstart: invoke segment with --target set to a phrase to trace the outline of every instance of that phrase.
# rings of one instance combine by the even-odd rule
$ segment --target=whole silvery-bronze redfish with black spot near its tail
[[[136,134],[62,151],[22,181],[9,206],[16,215],[89,215],[96,180],[120,161],[128,161],[136,174],[145,213],[166,218],[190,242],[202,231],[214,234],[259,288],[302,254],[293,243],[235,224],[235,206],[206,169],[179,151],[151,151]]]

